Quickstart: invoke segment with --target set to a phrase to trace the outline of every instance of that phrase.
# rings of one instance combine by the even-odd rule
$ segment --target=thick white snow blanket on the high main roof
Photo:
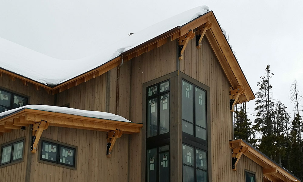
[[[185,25],[205,14],[207,6],[199,6],[156,23],[122,40],[113,39],[96,55],[76,60],[62,60],[46,56],[14,42],[0,38],[0,68],[22,75],[45,85],[58,85],[118,57],[154,37],[175,27]]]

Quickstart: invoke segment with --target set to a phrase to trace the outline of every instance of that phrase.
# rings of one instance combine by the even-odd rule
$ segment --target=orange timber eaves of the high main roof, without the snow
[[[242,86],[245,91],[243,94],[241,94],[237,99],[236,103],[241,103],[245,101],[249,101],[252,99],[255,99],[255,95],[251,90],[251,87],[249,86],[244,73],[242,72],[238,61],[231,50],[230,45],[228,44],[228,41],[225,37],[225,35],[222,33],[222,29],[220,25],[218,24],[218,21],[212,11],[205,13],[204,15],[199,16],[198,18],[188,22],[187,24],[183,26],[175,27],[161,35],[158,35],[157,37],[142,43],[141,45],[136,46],[133,49],[130,49],[126,52],[123,52],[123,59],[124,61],[128,61],[136,56],[140,56],[141,54],[145,52],[149,52],[154,48],[160,47],[164,45],[167,41],[175,40],[177,38],[180,38],[187,34],[188,32],[191,32],[195,30],[196,28],[199,28],[200,26],[210,24],[211,26],[209,29],[205,29],[205,32],[203,32],[203,35],[205,34],[212,49],[215,52],[215,55],[218,58],[218,61],[220,62],[220,65],[231,84],[231,89],[237,89],[238,86]],[[202,36],[203,38],[203,36]],[[116,66],[120,65],[122,62],[122,56],[118,56],[105,64],[92,69],[91,71],[88,71],[86,73],[83,73],[79,76],[76,76],[73,79],[70,79],[64,83],[61,83],[56,86],[46,86],[42,83],[38,83],[36,81],[33,81],[32,79],[25,78],[21,75],[18,75],[16,73],[12,73],[8,70],[0,69],[0,75],[2,73],[8,74],[12,80],[15,80],[15,78],[21,79],[25,85],[27,83],[32,83],[36,86],[37,89],[40,89],[40,87],[47,90],[48,93],[60,93],[66,89],[69,89],[73,86],[76,86],[80,83],[86,82],[92,78],[95,78],[97,76],[102,75],[103,73],[115,68]]]

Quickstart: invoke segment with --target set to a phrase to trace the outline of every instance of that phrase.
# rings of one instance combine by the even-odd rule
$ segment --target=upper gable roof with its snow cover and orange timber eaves
[[[77,60],[54,59],[5,39],[0,39],[0,72],[12,79],[22,79],[45,88],[49,93],[62,92],[72,86],[100,76],[118,66],[124,60],[163,45],[168,39],[174,40],[189,30],[212,22],[205,35],[214,50],[225,75],[233,89],[242,85],[246,91],[237,102],[254,99],[255,96],[238,64],[230,45],[212,11],[199,6],[173,16],[140,32],[127,36],[106,47],[97,55]]]

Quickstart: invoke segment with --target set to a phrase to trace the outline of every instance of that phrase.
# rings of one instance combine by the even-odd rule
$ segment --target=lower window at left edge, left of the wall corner
[[[24,139],[14,140],[1,147],[0,166],[8,163],[16,163],[23,159]]]

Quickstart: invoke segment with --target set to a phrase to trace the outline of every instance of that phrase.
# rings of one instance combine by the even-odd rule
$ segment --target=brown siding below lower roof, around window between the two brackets
[[[105,132],[50,126],[42,137],[77,146],[77,169],[40,163],[38,154],[32,154],[29,181],[127,181],[128,135],[116,141],[110,158],[106,157]]]

